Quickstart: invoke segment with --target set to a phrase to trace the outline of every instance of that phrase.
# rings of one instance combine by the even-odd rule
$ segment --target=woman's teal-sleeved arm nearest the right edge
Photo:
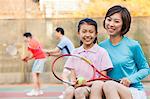
[[[132,46],[133,59],[135,61],[137,72],[129,76],[128,79],[132,83],[137,83],[149,75],[150,69],[147,60],[144,56],[140,44],[137,42],[136,45]]]

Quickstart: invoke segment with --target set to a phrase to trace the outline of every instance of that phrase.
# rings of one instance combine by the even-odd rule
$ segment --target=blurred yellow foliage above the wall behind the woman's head
[[[127,7],[132,16],[150,16],[150,0],[90,0],[89,3],[81,2],[80,11],[76,11],[74,16],[103,17],[113,5]]]

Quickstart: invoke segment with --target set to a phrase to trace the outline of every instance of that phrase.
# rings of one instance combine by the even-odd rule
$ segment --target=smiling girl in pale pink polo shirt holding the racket
[[[107,70],[112,68],[107,51],[97,45],[97,23],[93,19],[86,18],[78,24],[78,37],[81,40],[81,46],[73,50],[72,54],[77,54],[82,57],[89,59],[96,68],[99,68],[103,74],[107,74]],[[81,64],[83,67],[81,67]],[[82,76],[84,79],[89,80],[91,77],[91,69],[86,69],[86,64],[78,62],[73,58],[68,58],[65,63],[65,68],[71,71],[71,81],[76,83],[77,79]],[[85,67],[84,67],[85,66]],[[80,72],[80,68],[86,69],[86,71]],[[99,76],[99,75],[98,75]],[[65,77],[66,78],[66,77]],[[101,93],[103,81],[93,81],[92,83],[86,83],[88,86],[74,88],[68,86],[66,88],[64,99],[102,99]],[[98,90],[95,90],[98,89]]]

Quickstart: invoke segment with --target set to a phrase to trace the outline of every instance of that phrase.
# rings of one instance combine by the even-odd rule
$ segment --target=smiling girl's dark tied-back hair
[[[96,21],[94,21],[94,20],[91,19],[91,18],[85,18],[85,19],[82,19],[82,20],[79,22],[79,24],[78,24],[78,32],[80,31],[81,25],[82,25],[82,24],[85,24],[85,23],[88,24],[88,25],[93,25],[93,26],[95,27],[96,33],[98,32],[98,30],[97,30],[97,23],[96,23]],[[95,38],[95,40],[94,40],[93,43],[94,43],[94,44],[95,44],[95,43],[98,43],[97,37]],[[80,41],[80,45],[82,45],[82,44],[83,44],[83,42]]]

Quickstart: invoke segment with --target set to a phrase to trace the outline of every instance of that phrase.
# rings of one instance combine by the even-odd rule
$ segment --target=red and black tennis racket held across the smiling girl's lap
[[[60,80],[61,82],[63,83],[67,83],[68,85],[73,85],[70,81],[65,81],[62,79],[61,77],[61,73],[63,71],[63,66],[61,64],[59,64],[62,60],[62,58],[65,58],[65,57],[68,57],[68,58],[73,58],[77,65],[80,66],[80,71],[81,72],[86,72],[88,70],[90,70],[90,72],[87,72],[87,73],[91,73],[91,77],[89,77],[88,80],[86,80],[86,82],[91,82],[91,81],[95,81],[95,80],[114,80],[112,78],[110,78],[109,76],[106,76],[104,74],[101,73],[101,71],[99,71],[93,64],[90,60],[88,60],[87,58],[85,57],[81,57],[79,55],[71,55],[71,54],[64,54],[64,55],[61,55],[59,57],[57,57],[53,63],[52,63],[52,73],[53,75],[58,79]],[[78,64],[80,63],[80,64]],[[83,66],[84,65],[84,66]],[[85,67],[87,66],[87,67]],[[59,71],[57,71],[57,69],[59,69]],[[86,70],[87,69],[87,70]],[[85,75],[87,74],[85,73]],[[100,75],[101,77],[96,77],[98,75]],[[117,81],[119,82],[118,80],[114,80],[114,81]]]

